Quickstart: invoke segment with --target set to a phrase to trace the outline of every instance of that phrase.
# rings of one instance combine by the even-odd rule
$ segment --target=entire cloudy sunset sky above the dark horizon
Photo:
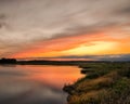
[[[128,58],[129,41],[130,0],[0,0],[0,57]]]

